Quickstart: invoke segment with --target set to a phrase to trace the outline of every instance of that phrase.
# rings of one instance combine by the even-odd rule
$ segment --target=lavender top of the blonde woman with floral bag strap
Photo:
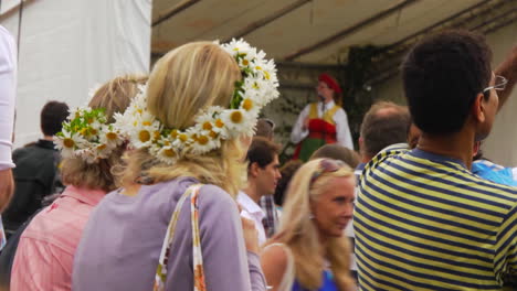
[[[72,290],[152,290],[170,216],[191,177],[109,193],[94,209],[74,259]],[[200,191],[200,236],[207,290],[266,290],[258,256],[246,252],[235,202],[222,188]],[[172,241],[166,290],[193,290],[190,204]]]

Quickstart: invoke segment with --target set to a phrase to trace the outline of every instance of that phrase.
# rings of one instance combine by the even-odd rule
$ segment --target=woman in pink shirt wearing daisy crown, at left
[[[116,183],[110,170],[125,144],[114,130],[145,77],[117,77],[98,88],[88,108],[73,110],[55,143],[63,157],[63,194],[23,231],[11,273],[11,291],[71,290],[72,266],[83,228],[95,205]]]

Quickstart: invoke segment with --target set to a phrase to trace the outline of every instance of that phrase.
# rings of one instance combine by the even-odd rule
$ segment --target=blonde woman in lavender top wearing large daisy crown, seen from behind
[[[253,223],[235,195],[274,63],[243,41],[161,57],[117,122],[134,151],[123,188],[98,205],[74,262],[83,290],[265,290]],[[244,228],[244,229],[243,229]]]

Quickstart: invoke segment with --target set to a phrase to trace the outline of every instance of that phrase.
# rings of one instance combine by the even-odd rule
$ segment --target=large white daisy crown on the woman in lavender
[[[167,128],[147,109],[146,89],[137,95],[124,115],[116,115],[115,128],[136,149],[147,149],[167,164],[173,164],[186,153],[204,154],[221,147],[221,141],[241,134],[253,136],[260,110],[279,96],[273,60],[243,40],[221,44],[239,64],[242,80],[229,108],[211,106],[200,110],[196,123],[187,129]]]

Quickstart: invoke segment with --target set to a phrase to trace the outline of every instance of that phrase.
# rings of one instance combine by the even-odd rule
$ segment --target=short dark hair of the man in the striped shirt
[[[492,51],[485,37],[450,30],[425,37],[402,64],[405,98],[423,132],[461,130],[477,94],[492,77]]]

